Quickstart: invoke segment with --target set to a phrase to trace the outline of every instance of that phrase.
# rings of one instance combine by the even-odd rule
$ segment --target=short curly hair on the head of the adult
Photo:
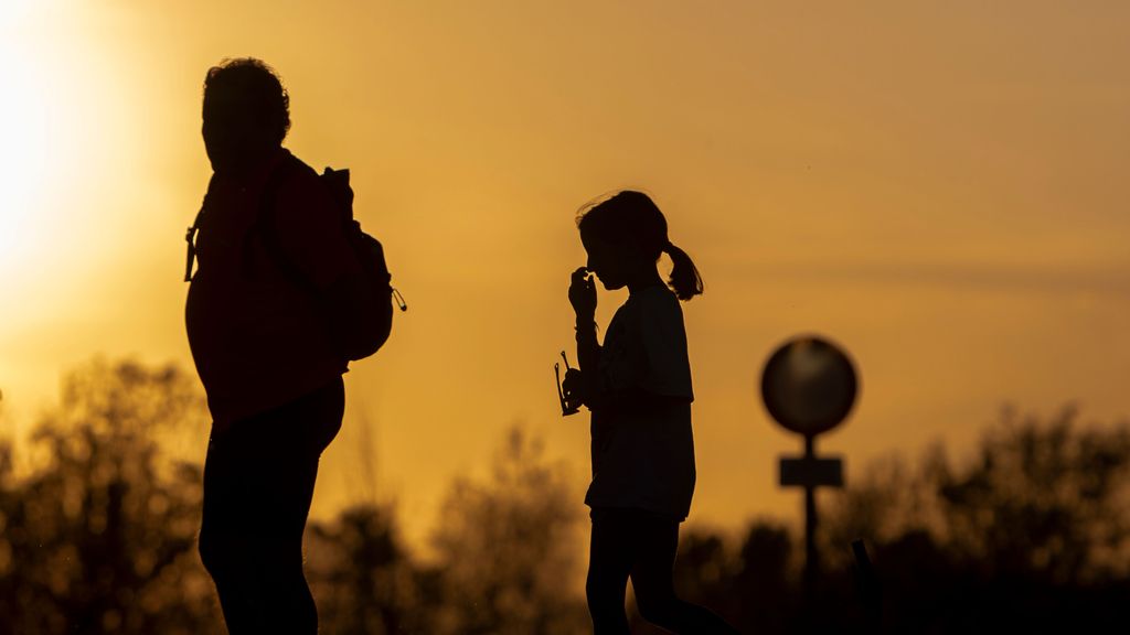
[[[215,92],[247,97],[258,116],[275,130],[279,143],[290,130],[290,96],[275,69],[255,58],[223,60],[205,76],[205,102]]]

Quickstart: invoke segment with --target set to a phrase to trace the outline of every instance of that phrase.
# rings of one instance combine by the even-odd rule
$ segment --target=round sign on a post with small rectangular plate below
[[[762,373],[762,399],[770,416],[805,437],[805,454],[782,456],[782,487],[805,488],[806,614],[812,610],[819,554],[816,549],[816,488],[842,487],[843,460],[816,454],[816,437],[838,426],[855,403],[855,368],[845,353],[815,336],[793,338],[770,357]]]

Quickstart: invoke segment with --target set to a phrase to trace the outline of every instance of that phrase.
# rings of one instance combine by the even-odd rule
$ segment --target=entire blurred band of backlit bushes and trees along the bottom
[[[207,415],[176,367],[94,360],[26,444],[0,438],[0,635],[221,633],[195,554]],[[20,453],[20,454],[18,454]],[[179,460],[190,455],[193,461]],[[18,461],[16,459],[19,459]],[[872,633],[849,546],[868,542],[883,630],[1086,632],[1130,602],[1130,425],[1006,410],[976,452],[895,456],[826,501],[819,625]],[[486,479],[452,484],[415,556],[392,505],[313,523],[328,633],[586,633],[579,493],[521,427]],[[747,633],[799,633],[796,536],[684,532],[675,583]],[[634,633],[657,633],[633,621]]]

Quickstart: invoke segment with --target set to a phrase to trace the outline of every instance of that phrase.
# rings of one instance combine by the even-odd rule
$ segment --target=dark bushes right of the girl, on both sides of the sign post
[[[1096,632],[1130,603],[1130,426],[1005,410],[975,453],[868,466],[824,506],[815,615],[798,612],[796,541],[755,523],[739,548],[689,530],[676,584],[750,633],[873,633],[850,545],[868,542],[881,632]],[[634,624],[633,633],[658,633]]]

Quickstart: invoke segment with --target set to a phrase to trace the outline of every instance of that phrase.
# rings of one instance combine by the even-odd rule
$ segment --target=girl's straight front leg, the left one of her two
[[[585,593],[594,635],[627,635],[624,592],[635,559],[631,525],[620,510],[592,511]]]

